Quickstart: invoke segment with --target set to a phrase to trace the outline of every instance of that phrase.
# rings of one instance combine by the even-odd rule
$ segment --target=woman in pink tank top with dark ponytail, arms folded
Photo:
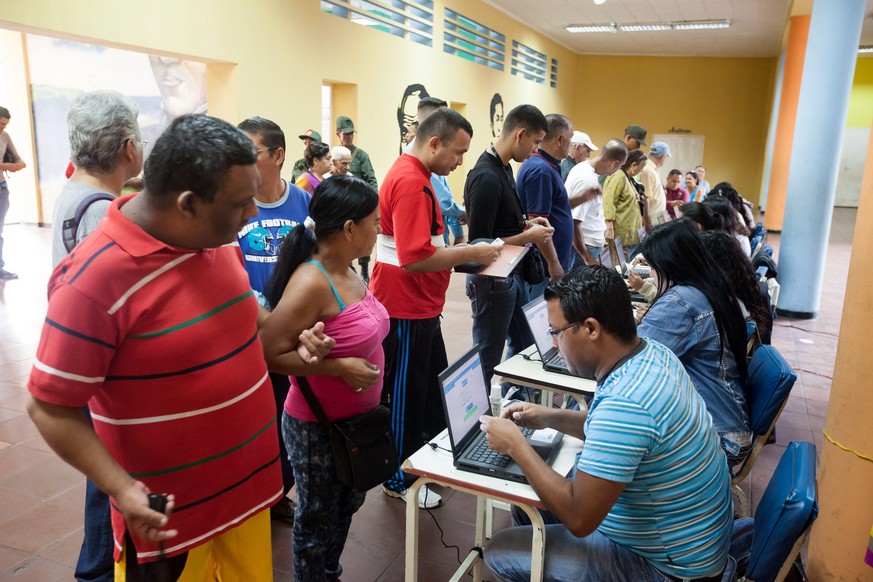
[[[306,376],[329,421],[379,404],[388,313],[349,268],[373,250],[381,232],[378,205],[376,192],[354,176],[321,182],[309,203],[307,225],[285,237],[265,293],[274,306],[260,333],[267,365],[292,376],[282,435],[297,483],[292,530],[297,580],[339,578],[352,515],[364,503],[365,492],[337,481],[330,434],[294,376]],[[297,338],[318,321],[336,345],[328,357],[307,364],[297,354]]]

